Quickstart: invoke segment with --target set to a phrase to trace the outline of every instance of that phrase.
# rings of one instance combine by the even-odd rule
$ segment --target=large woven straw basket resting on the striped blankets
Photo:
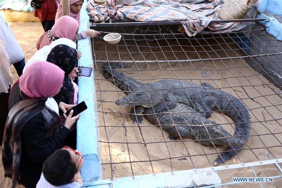
[[[221,19],[241,19],[258,0],[225,0],[219,17]]]

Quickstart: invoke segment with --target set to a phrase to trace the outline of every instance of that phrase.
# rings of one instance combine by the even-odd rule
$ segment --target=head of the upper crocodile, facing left
[[[123,97],[116,101],[116,105],[124,106],[143,106],[145,108],[152,108],[162,101],[159,92],[151,91],[155,90],[150,85],[141,86],[136,91],[129,93],[126,97]]]

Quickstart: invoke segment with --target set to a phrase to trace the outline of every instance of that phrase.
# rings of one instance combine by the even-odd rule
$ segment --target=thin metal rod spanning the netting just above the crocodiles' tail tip
[[[196,60],[155,60],[155,61],[117,61],[117,60],[96,60],[97,63],[178,63],[178,62],[193,62],[193,61],[215,61],[215,60],[231,60],[231,59],[241,59],[248,57],[262,57],[269,55],[281,55],[282,52],[273,53],[273,54],[262,54],[262,55],[247,55],[241,57],[223,57],[223,58],[208,58],[208,59],[196,59]]]

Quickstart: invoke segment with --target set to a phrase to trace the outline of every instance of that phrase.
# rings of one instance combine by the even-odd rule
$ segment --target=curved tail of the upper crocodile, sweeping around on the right
[[[218,91],[218,90],[217,90]],[[222,113],[228,115],[233,119],[233,121],[236,123],[236,128],[235,128],[235,133],[234,136],[238,136],[237,138],[243,139],[244,142],[246,142],[249,132],[250,132],[250,115],[245,107],[245,105],[238,100],[236,97],[233,95],[230,95],[229,93],[220,92],[219,96],[219,102],[217,102],[217,106],[213,108],[213,110],[222,110]],[[230,101],[230,102],[229,102]],[[243,136],[242,136],[243,135]],[[221,157],[224,161],[231,159],[238,151],[240,151],[242,147],[232,147],[228,146],[224,151],[227,150],[232,150],[232,151],[227,151],[223,152],[221,154]],[[222,159],[218,157],[213,165],[218,165],[223,163]]]

